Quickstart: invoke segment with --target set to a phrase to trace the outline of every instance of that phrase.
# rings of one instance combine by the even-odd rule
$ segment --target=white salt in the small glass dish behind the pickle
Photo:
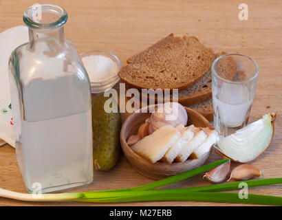
[[[91,83],[109,80],[118,74],[118,65],[107,56],[90,55],[82,61]]]

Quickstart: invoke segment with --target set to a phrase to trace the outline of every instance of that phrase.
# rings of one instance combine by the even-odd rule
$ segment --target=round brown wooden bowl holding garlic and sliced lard
[[[206,127],[210,126],[210,123],[203,115],[197,113],[193,109],[189,109],[185,107],[188,113],[188,123],[194,124],[197,127]],[[188,159],[186,162],[173,162],[173,164],[166,164],[164,162],[156,162],[152,164],[149,160],[144,159],[137,153],[131,150],[131,148],[127,145],[127,138],[130,135],[136,134],[138,128],[144,121],[149,118],[151,113],[133,113],[129,115],[127,120],[122,124],[122,129],[120,131],[120,143],[122,146],[122,151],[127,157],[131,166],[138,171],[141,175],[148,177],[150,179],[162,179],[164,177],[169,177],[171,175],[176,175],[179,173],[183,173],[186,170],[191,170],[198,166],[202,166],[206,159],[208,159],[208,155],[210,152],[206,153],[199,159]]]

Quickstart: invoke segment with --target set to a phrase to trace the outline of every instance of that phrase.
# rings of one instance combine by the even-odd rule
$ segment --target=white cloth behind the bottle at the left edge
[[[3,145],[3,141],[14,146],[12,111],[9,107],[11,98],[8,61],[12,51],[26,42],[28,28],[25,26],[17,26],[0,33],[0,146]]]

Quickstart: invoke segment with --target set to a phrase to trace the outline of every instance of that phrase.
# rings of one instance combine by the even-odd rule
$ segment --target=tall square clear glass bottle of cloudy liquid
[[[36,4],[23,14],[30,41],[9,61],[17,160],[28,192],[93,180],[91,93],[83,63],[65,40],[67,13]]]

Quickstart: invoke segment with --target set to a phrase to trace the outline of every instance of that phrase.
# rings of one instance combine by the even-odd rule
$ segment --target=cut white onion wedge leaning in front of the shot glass
[[[232,135],[221,138],[217,144],[217,153],[241,163],[256,159],[272,142],[275,118],[275,113],[264,115]]]

